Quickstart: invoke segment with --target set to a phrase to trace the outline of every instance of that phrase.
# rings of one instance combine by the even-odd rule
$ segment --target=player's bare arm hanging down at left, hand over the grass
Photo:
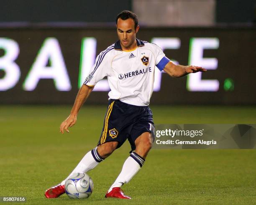
[[[93,88],[94,86],[82,85],[82,87],[79,89],[74,105],[71,109],[70,115],[60,125],[60,132],[62,134],[64,134],[64,130],[66,132],[69,132],[68,128],[72,127],[76,123],[79,109],[87,100]]]

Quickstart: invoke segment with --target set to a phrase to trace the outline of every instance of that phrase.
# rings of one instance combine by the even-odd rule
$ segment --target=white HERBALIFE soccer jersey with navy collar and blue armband
[[[155,66],[163,70],[170,60],[156,44],[136,41],[138,47],[132,51],[122,51],[119,40],[102,51],[84,84],[95,86],[107,76],[110,99],[148,106],[153,92]]]

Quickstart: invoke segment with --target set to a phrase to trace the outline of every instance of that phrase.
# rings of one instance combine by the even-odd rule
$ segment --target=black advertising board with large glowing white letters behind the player
[[[206,73],[172,78],[156,68],[151,104],[256,104],[255,28],[141,28],[175,63]],[[72,104],[114,28],[0,29],[0,104]],[[88,99],[108,99],[103,79]]]

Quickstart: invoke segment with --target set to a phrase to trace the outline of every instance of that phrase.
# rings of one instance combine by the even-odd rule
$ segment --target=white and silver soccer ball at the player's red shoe
[[[65,182],[66,194],[73,199],[88,198],[92,190],[92,179],[85,173],[73,173]]]

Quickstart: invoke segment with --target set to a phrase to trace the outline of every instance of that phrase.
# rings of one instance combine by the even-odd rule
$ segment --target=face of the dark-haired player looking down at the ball
[[[139,26],[135,29],[134,25],[135,23],[132,18],[128,18],[126,20],[118,18],[116,28],[123,50],[132,50],[137,46],[135,38],[136,33],[139,30]]]

